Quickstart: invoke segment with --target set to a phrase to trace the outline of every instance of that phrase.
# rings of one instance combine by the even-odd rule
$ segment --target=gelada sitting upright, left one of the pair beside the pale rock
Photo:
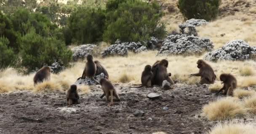
[[[93,62],[93,56],[92,55],[88,55],[86,57],[87,62],[85,64],[85,69],[83,70],[83,75],[82,75],[82,79],[85,79],[85,77],[89,77],[91,78],[91,80],[95,81],[97,84],[99,84],[99,82],[97,80],[94,79],[94,76],[96,74],[96,64]],[[79,78],[78,78],[79,79]]]

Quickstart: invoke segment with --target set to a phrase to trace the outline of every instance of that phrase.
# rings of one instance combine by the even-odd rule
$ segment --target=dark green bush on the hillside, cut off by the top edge
[[[219,12],[220,0],[179,0],[178,7],[187,18],[211,21]]]

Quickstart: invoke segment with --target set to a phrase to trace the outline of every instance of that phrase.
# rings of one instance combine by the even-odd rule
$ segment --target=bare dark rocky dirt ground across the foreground
[[[0,134],[204,134],[216,122],[200,116],[201,108],[218,96],[205,85],[177,84],[171,90],[115,85],[121,101],[108,107],[101,89],[80,95],[67,112],[65,93],[0,94]],[[148,93],[160,98],[150,100]],[[144,116],[136,117],[140,110]],[[64,111],[64,112],[63,112]]]

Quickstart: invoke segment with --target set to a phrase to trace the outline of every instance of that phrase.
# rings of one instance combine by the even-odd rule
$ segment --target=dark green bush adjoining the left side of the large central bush
[[[65,39],[72,37],[72,41],[69,40],[66,43],[84,44],[101,41],[104,32],[104,22],[104,10],[78,8],[68,19],[67,26],[70,34],[68,34],[68,31],[65,31],[64,37]]]

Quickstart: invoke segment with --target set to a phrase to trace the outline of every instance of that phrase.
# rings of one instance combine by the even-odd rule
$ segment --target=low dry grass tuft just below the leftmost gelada
[[[63,91],[63,87],[60,83],[45,81],[42,83],[38,83],[33,91],[35,93],[56,93],[59,91]]]

